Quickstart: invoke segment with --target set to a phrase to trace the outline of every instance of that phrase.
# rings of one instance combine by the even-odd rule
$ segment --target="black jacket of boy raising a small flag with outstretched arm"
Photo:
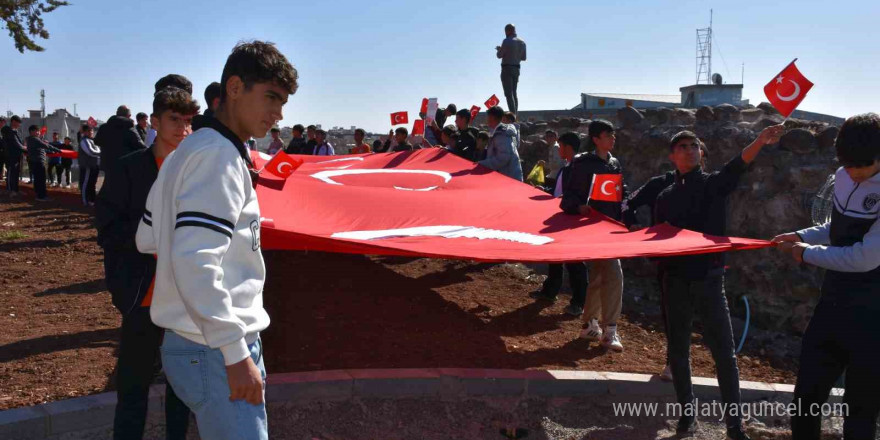
[[[675,183],[657,196],[654,223],[669,222],[691,231],[726,235],[727,197],[746,170],[748,165],[738,155],[714,173],[699,167],[685,174],[676,172]],[[724,253],[663,258],[660,264],[669,273],[699,279],[723,272]]]

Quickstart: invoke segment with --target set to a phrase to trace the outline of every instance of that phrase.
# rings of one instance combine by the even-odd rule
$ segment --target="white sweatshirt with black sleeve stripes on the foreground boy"
[[[169,155],[138,226],[157,255],[150,315],[159,327],[220,349],[226,365],[269,325],[260,207],[241,141],[213,119]]]

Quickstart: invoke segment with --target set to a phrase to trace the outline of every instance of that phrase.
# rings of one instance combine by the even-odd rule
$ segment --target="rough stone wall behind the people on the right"
[[[650,177],[672,169],[668,144],[681,130],[692,130],[706,143],[708,167],[717,170],[757,138],[765,127],[782,122],[772,107],[740,109],[732,105],[693,109],[659,108],[640,112],[620,109],[610,117],[617,131],[614,154],[621,160],[632,191]],[[520,156],[528,172],[548,159],[543,132],[581,135],[587,142],[589,120],[576,117],[524,122]],[[836,169],[834,140],[838,128],[825,122],[789,119],[779,143],[764,147],[749,173],[730,198],[728,234],[770,239],[774,235],[811,225],[810,208],[816,192]],[[639,213],[647,221],[646,212]],[[740,297],[748,295],[752,322],[773,330],[802,332],[819,296],[821,270],[795,264],[773,249],[733,252],[726,291],[732,313],[744,316]],[[646,291],[656,298],[653,265],[644,259],[626,264],[627,291]]]

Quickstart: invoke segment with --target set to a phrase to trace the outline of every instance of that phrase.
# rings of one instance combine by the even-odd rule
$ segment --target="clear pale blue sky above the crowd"
[[[384,132],[389,113],[412,119],[423,97],[441,105],[504,105],[495,46],[516,24],[528,44],[522,110],[570,108],[581,92],[677,94],[695,80],[695,30],[714,9],[714,72],[743,97],[793,58],[816,85],[801,109],[880,111],[880,2],[72,0],[45,16],[42,53],[0,36],[0,106],[107,119],[119,104],[149,113],[153,83],[180,73],[200,102],[239,40],[275,42],[300,74],[281,125],[358,125]],[[723,57],[723,61],[722,61]],[[725,65],[726,64],[726,65]],[[204,103],[202,102],[203,106]]]

